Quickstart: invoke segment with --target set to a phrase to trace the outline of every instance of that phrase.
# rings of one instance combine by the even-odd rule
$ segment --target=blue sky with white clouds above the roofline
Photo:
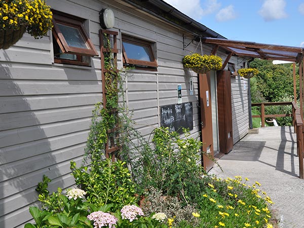
[[[230,40],[304,47],[304,0],[164,0]]]

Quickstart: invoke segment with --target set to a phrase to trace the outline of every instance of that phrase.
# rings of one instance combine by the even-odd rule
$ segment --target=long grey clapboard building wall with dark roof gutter
[[[208,122],[202,121],[203,100],[207,98],[202,85],[200,88],[200,77],[183,68],[182,58],[198,46],[201,52],[199,40],[193,40],[196,34],[224,39],[223,36],[161,0],[47,0],[47,4],[54,15],[82,22],[98,55],[81,60],[65,56],[75,61],[62,60],[51,31],[40,40],[25,33],[14,46],[0,50],[0,227],[3,228],[23,227],[31,219],[28,207],[39,204],[35,187],[44,174],[52,179],[50,191],[74,184],[69,162],[82,161],[92,110],[95,103],[102,101],[100,10],[109,8],[115,15],[110,30],[118,32],[120,68],[124,65],[123,41],[148,44],[157,63],[133,69],[125,81],[126,102],[134,111],[140,133],[147,136],[153,127],[161,125],[161,107],[178,103],[178,85],[182,103],[190,102],[193,107],[193,136],[198,136]],[[214,47],[203,43],[202,48],[205,54],[210,54]],[[216,54],[223,60],[227,57],[221,49]],[[234,56],[229,60],[235,69],[244,67],[246,61]],[[227,88],[231,92],[233,131],[229,136],[236,143],[248,132],[248,85],[247,80],[230,74],[231,84]],[[220,150],[218,120],[223,117],[217,106],[216,72],[211,71],[208,77],[208,107],[212,107],[209,122],[216,153]],[[190,80],[193,92],[189,91]]]

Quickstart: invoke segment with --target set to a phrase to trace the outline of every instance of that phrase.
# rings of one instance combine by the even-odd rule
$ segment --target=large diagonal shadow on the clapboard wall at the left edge
[[[36,117],[35,110],[44,101],[24,95],[18,85],[29,88],[30,84],[22,77],[13,79],[13,63],[5,51],[4,55],[6,62],[0,63],[0,227],[12,228],[31,218],[28,206],[37,203],[35,187],[43,174],[54,179],[60,172],[53,157],[55,148]],[[61,181],[58,178],[57,184]]]

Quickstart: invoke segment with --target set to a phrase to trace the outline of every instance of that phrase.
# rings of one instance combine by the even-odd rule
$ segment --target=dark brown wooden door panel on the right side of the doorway
[[[227,154],[233,149],[231,72],[217,71],[217,112],[219,151]]]

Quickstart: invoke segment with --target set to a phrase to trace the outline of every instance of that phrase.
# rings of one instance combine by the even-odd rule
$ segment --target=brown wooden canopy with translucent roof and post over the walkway
[[[304,138],[303,138],[303,99],[304,99],[304,49],[299,47],[259,44],[255,42],[232,41],[217,38],[202,38],[205,44],[214,45],[211,54],[215,54],[218,48],[226,50],[227,57],[223,62],[222,69],[225,68],[232,56],[260,58],[267,60],[283,60],[293,62],[293,92],[292,116],[294,131],[297,136],[297,156],[299,157],[299,174],[304,179]],[[296,76],[295,64],[299,63],[299,101],[300,107],[296,105]]]

